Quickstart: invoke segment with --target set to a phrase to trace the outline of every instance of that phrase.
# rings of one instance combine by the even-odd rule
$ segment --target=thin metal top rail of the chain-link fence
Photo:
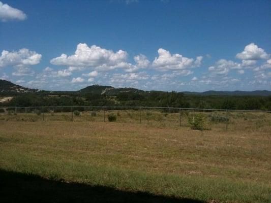
[[[54,106],[54,107],[0,107],[0,108],[127,108],[127,109],[177,109],[177,110],[201,110],[201,111],[232,111],[232,112],[269,112],[269,110],[234,110],[234,109],[200,109],[182,107],[116,107],[116,106]]]

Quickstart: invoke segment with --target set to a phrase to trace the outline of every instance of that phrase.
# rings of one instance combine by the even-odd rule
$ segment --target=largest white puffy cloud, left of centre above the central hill
[[[123,50],[113,52],[96,45],[88,47],[86,44],[78,44],[75,54],[68,56],[62,54],[50,60],[54,65],[69,66],[68,71],[83,71],[87,67],[99,71],[110,71],[114,69],[124,69],[132,73],[148,66],[149,61],[146,56],[139,54],[134,57],[136,64],[127,62],[128,53]]]

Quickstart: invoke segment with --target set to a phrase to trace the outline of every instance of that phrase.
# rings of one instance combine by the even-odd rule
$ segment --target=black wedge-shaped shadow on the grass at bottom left
[[[0,170],[1,202],[197,202],[157,196],[147,192],[120,191],[110,187],[64,183]]]

